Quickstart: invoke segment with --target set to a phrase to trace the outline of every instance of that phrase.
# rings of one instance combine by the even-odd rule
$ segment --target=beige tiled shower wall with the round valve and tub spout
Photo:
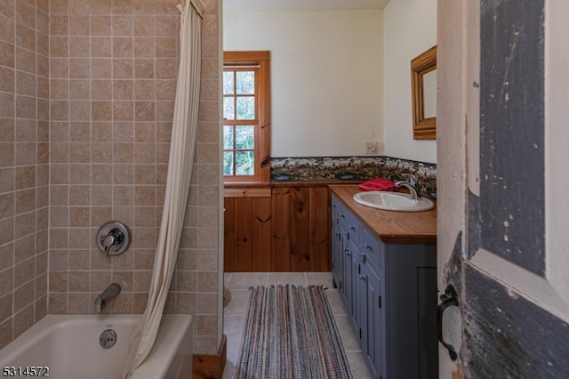
[[[22,1],[3,3],[20,6]],[[140,313],[146,306],[172,129],[178,3],[50,0],[49,9],[45,7],[50,46],[49,200],[44,196],[44,206],[49,201],[50,209],[49,259],[41,260],[36,248],[35,261],[48,262],[49,288],[47,302],[36,301],[36,313],[42,311],[41,304],[44,313],[91,313],[95,296],[112,282],[123,291],[104,311]],[[213,353],[219,312],[219,42],[217,0],[204,3],[198,144],[166,311],[195,314],[196,352]],[[36,55],[42,51],[38,42]],[[40,122],[36,124],[40,130]],[[47,175],[43,177],[47,181]],[[34,214],[44,209],[37,204],[41,199],[36,195]],[[129,225],[132,245],[125,254],[108,258],[97,249],[94,236],[111,220]],[[40,231],[35,231],[38,237]],[[45,286],[41,275],[36,274],[35,282],[43,279]],[[38,294],[36,289],[31,297]],[[16,295],[13,292],[14,299]],[[28,318],[26,327],[33,322]],[[14,336],[19,334],[12,329]]]

